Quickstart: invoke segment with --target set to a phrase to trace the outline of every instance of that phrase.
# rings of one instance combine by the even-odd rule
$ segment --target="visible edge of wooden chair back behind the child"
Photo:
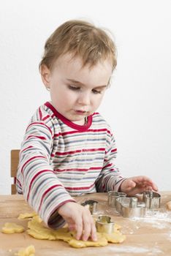
[[[15,184],[16,184],[16,175],[18,170],[19,153],[20,153],[20,149],[12,149],[11,151],[11,177],[14,178],[14,183],[11,184],[12,195],[17,193]]]

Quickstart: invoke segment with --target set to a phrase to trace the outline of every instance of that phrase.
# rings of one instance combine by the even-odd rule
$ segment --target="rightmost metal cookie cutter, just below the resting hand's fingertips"
[[[142,200],[145,202],[146,208],[159,208],[161,195],[157,192],[145,191],[143,192]]]

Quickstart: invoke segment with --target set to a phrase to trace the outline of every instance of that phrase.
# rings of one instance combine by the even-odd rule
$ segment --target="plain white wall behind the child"
[[[10,150],[31,115],[49,99],[38,65],[45,40],[66,20],[110,29],[118,67],[100,112],[115,131],[124,176],[171,181],[171,1],[15,0],[0,7],[0,194],[10,193]]]

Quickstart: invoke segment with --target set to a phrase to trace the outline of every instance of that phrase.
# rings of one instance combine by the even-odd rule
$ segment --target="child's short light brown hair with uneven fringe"
[[[110,59],[113,69],[117,64],[113,39],[103,29],[83,20],[69,20],[53,32],[45,43],[45,53],[39,68],[45,64],[52,69],[59,56],[71,53],[79,56],[83,67],[94,67],[98,61]]]

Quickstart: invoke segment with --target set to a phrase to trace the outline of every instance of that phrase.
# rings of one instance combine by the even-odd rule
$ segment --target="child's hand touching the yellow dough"
[[[77,240],[81,238],[83,241],[87,241],[89,236],[93,241],[97,240],[94,219],[88,208],[80,206],[78,203],[69,202],[58,208],[58,214],[65,219],[69,230],[76,230]]]

